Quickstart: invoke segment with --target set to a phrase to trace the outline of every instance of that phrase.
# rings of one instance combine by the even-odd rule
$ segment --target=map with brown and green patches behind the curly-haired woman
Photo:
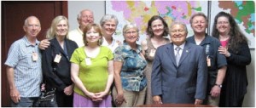
[[[255,48],[255,3],[253,1],[212,1],[211,26],[218,12],[232,14],[246,35],[250,48]],[[211,30],[212,31],[212,30]]]

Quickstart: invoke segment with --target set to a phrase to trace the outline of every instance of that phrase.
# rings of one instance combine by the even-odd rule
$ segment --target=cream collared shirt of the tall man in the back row
[[[68,32],[67,38],[70,40],[73,40],[75,43],[77,43],[80,47],[84,46],[84,33],[79,29],[79,27],[73,31]]]

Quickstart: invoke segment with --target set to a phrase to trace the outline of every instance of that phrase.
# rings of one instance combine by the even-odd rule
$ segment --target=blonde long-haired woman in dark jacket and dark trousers
[[[46,91],[55,90],[57,106],[73,106],[73,82],[70,75],[70,57],[77,43],[67,39],[68,20],[59,15],[47,31],[50,45],[42,52],[42,68]]]

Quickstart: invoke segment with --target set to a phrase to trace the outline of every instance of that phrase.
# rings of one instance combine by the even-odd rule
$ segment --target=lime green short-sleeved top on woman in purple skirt
[[[89,92],[104,91],[108,82],[108,61],[113,60],[112,51],[101,46],[96,58],[90,58],[91,65],[86,65],[86,58],[84,47],[81,47],[75,49],[70,61],[79,65],[79,78]],[[74,92],[86,96],[77,86],[74,86]]]

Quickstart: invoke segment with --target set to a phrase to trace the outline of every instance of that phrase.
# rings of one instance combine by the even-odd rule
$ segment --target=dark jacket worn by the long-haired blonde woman
[[[56,38],[51,39],[49,42],[49,48],[42,52],[42,68],[46,89],[56,88],[58,91],[63,91],[64,88],[73,83],[70,75],[71,63],[69,59],[73,51],[78,48],[78,45],[66,38],[66,54]],[[54,62],[56,54],[61,54],[59,63]]]

